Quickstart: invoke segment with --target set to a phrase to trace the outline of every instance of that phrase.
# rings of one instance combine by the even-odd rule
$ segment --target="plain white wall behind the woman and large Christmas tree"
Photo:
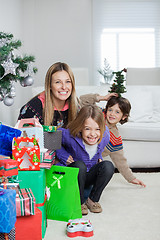
[[[22,41],[19,50],[36,58],[33,87],[44,85],[47,69],[57,61],[85,69],[92,84],[92,0],[0,0],[0,9],[0,31],[13,33]],[[31,89],[16,84],[14,105],[0,102],[0,121],[14,126]]]

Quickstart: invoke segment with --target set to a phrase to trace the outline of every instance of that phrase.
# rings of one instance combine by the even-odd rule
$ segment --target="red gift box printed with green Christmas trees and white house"
[[[12,158],[19,170],[40,170],[40,148],[35,137],[14,138]]]

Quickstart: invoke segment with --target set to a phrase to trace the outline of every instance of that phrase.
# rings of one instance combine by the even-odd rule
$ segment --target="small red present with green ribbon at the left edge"
[[[7,177],[18,174],[18,163],[10,158],[0,158],[0,176]]]

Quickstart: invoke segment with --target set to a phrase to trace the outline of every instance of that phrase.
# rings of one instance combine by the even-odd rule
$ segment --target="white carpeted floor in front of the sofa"
[[[160,240],[160,173],[136,173],[147,187],[129,184],[114,174],[102,194],[103,212],[83,218],[92,222],[94,236],[73,239]],[[71,239],[66,236],[66,222],[48,220],[44,240]]]

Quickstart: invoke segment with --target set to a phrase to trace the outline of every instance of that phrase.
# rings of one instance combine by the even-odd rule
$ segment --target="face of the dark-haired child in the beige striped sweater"
[[[116,125],[121,119],[123,119],[123,113],[119,108],[118,103],[112,107],[108,107],[106,118],[111,125]]]

